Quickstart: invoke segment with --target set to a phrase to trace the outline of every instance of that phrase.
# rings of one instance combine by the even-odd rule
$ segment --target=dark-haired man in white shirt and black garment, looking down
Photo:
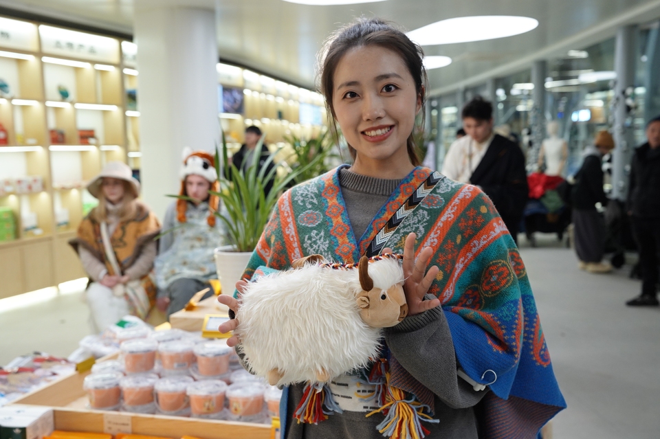
[[[461,117],[467,135],[450,146],[442,173],[481,188],[517,242],[527,203],[525,155],[517,144],[493,132],[493,106],[481,96],[465,104]]]

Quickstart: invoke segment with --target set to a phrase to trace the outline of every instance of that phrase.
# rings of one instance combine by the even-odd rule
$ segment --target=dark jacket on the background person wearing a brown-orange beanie
[[[608,198],[603,190],[603,169],[601,155],[588,155],[584,157],[582,167],[575,174],[572,201],[573,208],[577,210],[596,210],[596,203],[603,207],[607,205]]]

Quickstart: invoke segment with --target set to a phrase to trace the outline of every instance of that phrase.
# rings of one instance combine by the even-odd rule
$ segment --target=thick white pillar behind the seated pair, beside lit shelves
[[[135,1],[142,198],[160,218],[183,148],[214,151],[219,139],[214,3],[186,3]]]

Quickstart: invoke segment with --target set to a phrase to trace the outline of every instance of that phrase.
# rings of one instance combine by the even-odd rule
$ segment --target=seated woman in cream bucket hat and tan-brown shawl
[[[80,256],[89,275],[85,291],[90,322],[99,333],[124,315],[146,319],[156,299],[151,279],[156,257],[154,238],[160,223],[148,207],[137,200],[140,182],[131,168],[110,161],[87,185],[98,205],[78,227],[69,244]]]

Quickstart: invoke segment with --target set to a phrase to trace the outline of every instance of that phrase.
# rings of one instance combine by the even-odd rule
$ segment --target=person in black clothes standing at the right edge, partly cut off
[[[646,125],[648,142],[632,156],[627,210],[632,216],[641,265],[641,295],[628,306],[658,306],[658,252],[660,251],[660,116]]]

